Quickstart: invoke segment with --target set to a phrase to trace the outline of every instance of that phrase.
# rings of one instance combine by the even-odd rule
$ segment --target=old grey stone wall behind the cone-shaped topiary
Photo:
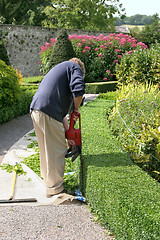
[[[42,28],[35,26],[17,26],[0,24],[0,30],[5,36],[5,46],[11,65],[21,71],[24,77],[38,76],[40,74],[38,62],[41,46],[56,38],[60,29]],[[67,30],[69,34],[88,34],[98,36],[107,35],[106,32]]]

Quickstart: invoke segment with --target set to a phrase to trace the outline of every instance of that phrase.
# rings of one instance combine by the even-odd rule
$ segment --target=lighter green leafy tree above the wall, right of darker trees
[[[45,27],[111,30],[114,14],[123,16],[124,9],[119,0],[51,0],[44,9],[47,18]]]

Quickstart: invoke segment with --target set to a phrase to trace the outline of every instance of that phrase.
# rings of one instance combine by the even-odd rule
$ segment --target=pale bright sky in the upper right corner
[[[154,15],[158,13],[160,17],[160,0],[120,0],[126,11],[126,16],[130,17],[136,14]]]

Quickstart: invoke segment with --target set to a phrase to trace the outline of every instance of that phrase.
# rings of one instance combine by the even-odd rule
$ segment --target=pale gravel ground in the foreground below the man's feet
[[[0,206],[1,240],[113,239],[86,205]]]

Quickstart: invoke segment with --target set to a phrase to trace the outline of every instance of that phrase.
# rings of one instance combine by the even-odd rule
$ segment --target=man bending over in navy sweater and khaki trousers
[[[47,197],[64,191],[65,131],[69,128],[66,115],[73,104],[74,112],[79,112],[85,93],[84,76],[80,59],[72,58],[54,66],[40,83],[30,105]],[[74,142],[68,140],[68,145]]]

